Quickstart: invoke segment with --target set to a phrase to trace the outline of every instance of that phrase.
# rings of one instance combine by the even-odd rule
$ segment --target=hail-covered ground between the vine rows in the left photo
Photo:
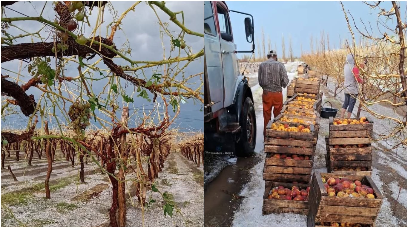
[[[106,174],[94,164],[85,164],[85,184],[80,184],[79,165],[71,167],[57,152],[50,180],[51,199],[44,199],[46,159],[16,162],[7,158],[18,182],[13,181],[7,169],[1,170],[1,226],[109,226],[108,209],[111,207],[111,186]],[[128,174],[127,178],[132,178]],[[161,192],[167,192],[180,208],[173,217],[164,217],[165,204],[161,195],[149,191],[150,203],[142,208],[137,202],[135,188],[126,184],[126,226],[203,226],[203,167],[187,160],[180,153],[170,153],[164,169],[155,180]],[[142,221],[144,220],[144,224]]]

